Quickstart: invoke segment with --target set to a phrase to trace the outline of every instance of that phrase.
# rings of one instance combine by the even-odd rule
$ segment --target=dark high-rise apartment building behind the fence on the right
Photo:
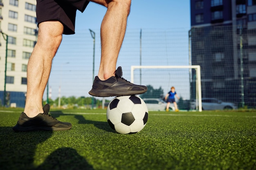
[[[256,107],[256,0],[191,0],[191,64],[202,97]]]

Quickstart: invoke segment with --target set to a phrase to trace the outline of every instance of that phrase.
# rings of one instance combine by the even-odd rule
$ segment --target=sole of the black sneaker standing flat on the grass
[[[62,131],[62,130],[70,130],[72,128],[56,128],[56,127],[47,127],[47,126],[28,126],[28,127],[23,127],[18,124],[14,126],[12,129],[15,132],[29,132],[29,131],[39,131],[39,130],[48,130],[48,131]]]

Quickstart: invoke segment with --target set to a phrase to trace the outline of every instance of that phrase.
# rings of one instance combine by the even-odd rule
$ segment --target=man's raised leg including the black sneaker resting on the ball
[[[101,63],[90,95],[98,97],[138,95],[147,91],[146,86],[132,84],[123,79],[122,69],[116,70],[117,57],[126,32],[131,0],[90,0],[106,6],[101,23]],[[106,80],[106,81],[105,81]]]

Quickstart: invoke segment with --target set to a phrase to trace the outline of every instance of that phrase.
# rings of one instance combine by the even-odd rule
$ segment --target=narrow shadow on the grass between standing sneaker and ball
[[[93,124],[95,127],[105,130],[107,132],[115,132],[113,131],[110,126],[108,125],[107,121],[93,121],[93,120],[87,120],[83,115],[75,115],[75,114],[67,114],[63,113],[61,110],[56,110],[56,111],[50,111],[50,115],[53,117],[57,118],[60,116],[67,116],[67,115],[72,115],[78,120],[78,124]]]

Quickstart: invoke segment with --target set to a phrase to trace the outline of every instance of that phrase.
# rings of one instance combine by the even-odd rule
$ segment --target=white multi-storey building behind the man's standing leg
[[[37,40],[36,0],[0,0],[0,101],[25,105],[27,62]],[[8,35],[7,61],[6,35]],[[5,64],[7,64],[5,78]],[[1,104],[0,102],[0,104]]]

